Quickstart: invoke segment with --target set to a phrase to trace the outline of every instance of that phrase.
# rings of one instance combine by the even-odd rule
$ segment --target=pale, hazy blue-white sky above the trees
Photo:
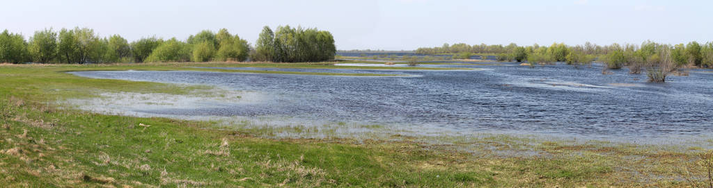
[[[128,40],[227,28],[255,43],[263,26],[318,28],[337,49],[415,50],[443,43],[518,45],[713,41],[713,1],[14,1],[0,30],[29,38],[44,28],[93,28]]]

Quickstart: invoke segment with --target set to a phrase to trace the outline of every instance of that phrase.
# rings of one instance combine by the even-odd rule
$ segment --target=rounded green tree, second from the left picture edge
[[[35,62],[51,62],[57,53],[57,33],[51,28],[35,31],[30,38],[29,51]]]

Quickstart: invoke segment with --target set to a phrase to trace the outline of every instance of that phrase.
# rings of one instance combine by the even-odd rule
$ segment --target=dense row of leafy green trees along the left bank
[[[225,28],[217,33],[200,31],[186,40],[148,37],[130,43],[120,35],[102,38],[91,28],[49,28],[36,31],[29,40],[5,30],[0,33],[0,62],[313,62],[332,60],[336,53],[332,34],[314,28],[279,27],[271,35],[270,48],[261,45],[265,40],[260,36],[256,50]]]

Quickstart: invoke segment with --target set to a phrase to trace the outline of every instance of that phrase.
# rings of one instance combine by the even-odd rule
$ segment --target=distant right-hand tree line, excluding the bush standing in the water
[[[509,45],[466,45],[458,43],[455,45],[443,44],[442,47],[419,48],[419,54],[455,54],[455,57],[469,57],[472,54],[494,54],[500,61],[517,62],[567,62],[568,64],[588,63],[600,60],[607,63],[607,67],[617,69],[627,65],[634,56],[641,56],[647,59],[662,46],[670,48],[672,60],[678,65],[690,65],[697,67],[713,67],[713,42],[700,44],[695,41],[687,44],[664,45],[646,41],[641,45],[625,44],[620,45],[596,45],[585,43],[585,45],[565,45],[564,43],[553,43],[550,46],[540,46],[538,44],[529,46],[518,46],[515,43]],[[627,57],[624,57],[627,56]]]

